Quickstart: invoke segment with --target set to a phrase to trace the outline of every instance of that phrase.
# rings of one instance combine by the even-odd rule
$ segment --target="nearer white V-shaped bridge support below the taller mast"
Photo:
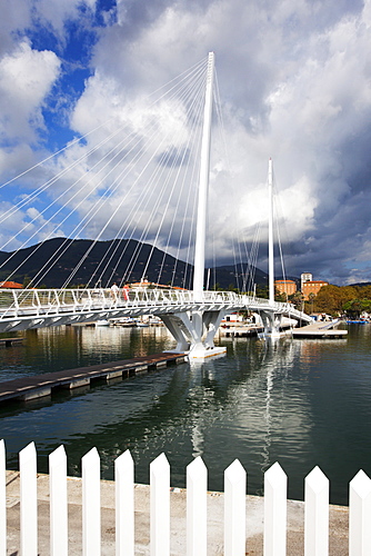
[[[161,320],[177,340],[177,353],[188,353],[189,358],[205,358],[225,353],[225,348],[214,346],[225,310],[189,310],[172,315],[161,315]]]

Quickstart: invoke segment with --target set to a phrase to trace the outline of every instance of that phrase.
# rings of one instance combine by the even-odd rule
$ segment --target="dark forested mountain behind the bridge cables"
[[[148,260],[150,258],[150,262]],[[109,287],[113,281],[139,281],[144,277],[152,282],[189,287],[193,266],[176,259],[149,244],[134,239],[92,241],[90,239],[53,238],[18,251],[0,251],[0,280],[60,288],[69,286]],[[241,288],[249,284],[244,276],[247,265],[221,266],[205,272],[209,289]],[[259,269],[253,282],[267,286],[268,276]]]

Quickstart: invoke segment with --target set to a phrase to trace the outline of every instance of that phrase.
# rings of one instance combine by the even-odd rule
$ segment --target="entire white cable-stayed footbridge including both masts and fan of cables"
[[[204,357],[225,350],[215,348],[213,338],[228,312],[258,311],[265,332],[271,336],[279,334],[284,316],[301,322],[311,321],[310,317],[294,309],[292,305],[274,301],[272,200],[269,202],[269,299],[231,291],[208,291],[209,286],[204,285],[205,237],[213,237],[215,231],[225,235],[229,229],[228,218],[223,217],[221,225],[217,227],[214,222],[217,229],[207,234],[208,221],[210,226],[208,210],[213,81],[214,56],[210,52],[207,66],[197,66],[187,79],[181,76],[174,83],[171,82],[169,90],[150,105],[143,129],[136,128],[139,122],[134,126],[136,130],[133,129],[133,120],[129,117],[132,111],[129,110],[127,123],[110,132],[108,137],[104,126],[99,126],[91,131],[92,135],[89,132],[81,137],[81,143],[80,139],[72,141],[69,145],[72,150],[64,152],[62,149],[57,152],[57,161],[53,163],[47,158],[18,178],[3,183],[2,187],[16,179],[22,181],[26,175],[27,179],[32,181],[32,170],[38,169],[41,163],[46,163],[47,175],[50,176],[32,193],[20,196],[17,206],[0,217],[6,229],[4,222],[12,226],[14,215],[21,215],[22,210],[27,209],[24,224],[20,227],[17,238],[9,237],[0,247],[0,250],[3,250],[10,241],[16,241],[21,246],[18,250],[24,248],[27,251],[26,257],[20,257],[18,250],[13,251],[3,259],[0,269],[4,272],[3,266],[9,265],[10,274],[7,280],[22,276],[23,282],[28,274],[26,269],[32,272],[32,276],[28,277],[31,280],[27,289],[0,290],[0,332],[156,315],[174,337],[178,351],[190,351],[192,357]],[[157,112],[153,112],[154,106],[158,107]],[[161,127],[164,113],[177,118],[170,119]],[[140,121],[142,119],[139,118]],[[98,138],[93,139],[96,132]],[[101,133],[104,139],[100,138]],[[73,149],[77,148],[77,142],[80,146],[76,151]],[[223,141],[222,145],[225,146]],[[219,166],[217,161],[215,168]],[[57,175],[56,169],[59,170]],[[38,183],[39,175],[33,176],[33,179]],[[193,185],[197,183],[198,189],[194,189]],[[271,191],[271,161],[269,185]],[[229,182],[219,198],[224,199],[225,190],[229,191]],[[42,211],[30,206],[42,199],[46,203]],[[218,215],[224,216],[224,211],[225,207],[222,206]],[[234,211],[235,205],[233,215]],[[76,214],[77,221],[73,220]],[[64,231],[64,226],[71,226],[71,230]],[[114,241],[104,256],[92,262],[90,256],[94,245],[110,235],[111,228],[116,230]],[[60,235],[64,240],[57,249],[49,248],[47,256],[39,256],[41,244],[36,248],[30,247],[39,234],[47,238],[57,238]],[[68,252],[73,241],[68,237],[78,239],[91,234],[94,237],[93,244],[79,254],[78,264],[70,268]],[[23,242],[22,235],[26,236]],[[123,239],[137,237],[138,245],[129,254],[132,242]],[[146,239],[149,240],[151,249],[146,259],[139,261],[139,246],[143,245]],[[223,255],[223,241],[219,245],[217,242],[220,256]],[[235,257],[235,249],[239,256],[241,255],[243,246],[240,239],[238,247],[234,247],[233,241],[231,238],[227,240],[224,255],[228,252],[233,256],[233,251]],[[181,254],[187,254],[188,267],[181,272],[183,289],[132,288],[128,294],[123,286],[138,280],[138,276],[137,280],[133,279],[137,264],[142,265],[139,267],[142,279],[147,278],[151,270],[151,260],[156,259],[157,245],[164,246],[164,251],[170,247],[176,250],[176,267]],[[124,257],[127,259],[123,259]],[[253,241],[248,256],[250,269],[257,267],[255,257]],[[127,260],[124,269],[120,267],[121,260]],[[169,266],[168,259],[161,257],[161,260],[157,259],[152,266],[158,270],[156,284],[161,284],[163,272]],[[58,269],[52,285],[59,282],[60,289],[41,287],[51,268]],[[80,270],[87,268],[91,269],[89,278],[80,278],[79,281]],[[64,271],[69,272],[66,279],[62,278]],[[191,276],[192,284],[189,282]],[[234,276],[238,277],[238,272],[234,272]],[[251,270],[249,276],[249,284],[244,278],[242,287],[239,287],[241,291],[254,290],[254,271]],[[116,285],[117,289],[109,289],[116,280],[120,288]],[[168,284],[168,279],[166,282]],[[73,284],[83,284],[83,287],[73,289]],[[169,284],[177,285],[176,268],[171,272]],[[92,285],[103,287],[90,288]],[[214,286],[217,289],[215,280]]]

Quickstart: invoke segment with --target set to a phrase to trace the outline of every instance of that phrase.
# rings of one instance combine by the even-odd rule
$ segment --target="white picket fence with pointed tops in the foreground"
[[[82,547],[101,554],[100,458],[92,448],[82,460]],[[19,454],[20,549],[38,555],[37,453]],[[114,461],[116,555],[134,555],[134,465],[129,450]],[[63,446],[49,456],[50,555],[68,555],[67,457]],[[224,555],[245,555],[247,475],[239,460],[224,471]],[[349,554],[371,554],[371,480],[360,470],[350,483]],[[279,464],[264,474],[264,556],[287,554],[287,476]],[[0,556],[7,554],[6,448],[0,440]],[[163,454],[150,465],[150,554],[170,555],[170,466]],[[205,556],[207,468],[200,457],[187,467],[187,555]],[[305,478],[305,556],[329,554],[329,480],[315,467]]]

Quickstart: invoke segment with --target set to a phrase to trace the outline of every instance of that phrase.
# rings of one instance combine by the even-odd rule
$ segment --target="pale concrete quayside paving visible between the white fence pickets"
[[[8,556],[20,554],[19,542],[19,473],[7,471]],[[150,487],[136,485],[136,555],[150,554]],[[39,555],[48,556],[49,548],[49,476],[38,475]],[[80,478],[68,478],[69,554],[82,554]],[[171,505],[171,555],[184,556],[186,489],[173,488]],[[102,556],[114,555],[114,483],[101,481]],[[288,503],[288,555],[304,554],[304,504]],[[223,554],[223,494],[208,494],[208,556]],[[263,498],[247,496],[245,554],[263,554]],[[330,556],[348,555],[348,508],[330,506]]]

